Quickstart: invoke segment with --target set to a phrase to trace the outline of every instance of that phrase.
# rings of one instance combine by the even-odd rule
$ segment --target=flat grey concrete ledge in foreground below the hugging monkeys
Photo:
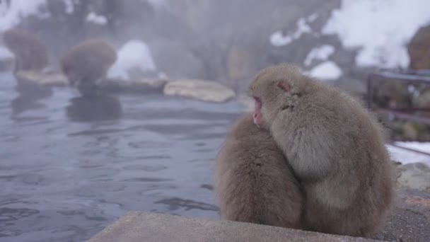
[[[141,241],[373,241],[274,226],[180,217],[170,214],[128,212],[90,242]]]

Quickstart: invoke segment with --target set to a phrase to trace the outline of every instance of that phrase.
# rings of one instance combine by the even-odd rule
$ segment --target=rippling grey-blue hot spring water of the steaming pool
[[[84,241],[130,210],[219,217],[214,157],[238,103],[33,89],[0,74],[0,241]]]

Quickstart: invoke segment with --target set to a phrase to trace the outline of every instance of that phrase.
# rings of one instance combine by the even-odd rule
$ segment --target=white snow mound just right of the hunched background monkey
[[[140,40],[129,40],[121,47],[118,51],[117,61],[108,72],[108,77],[127,80],[129,79],[127,71],[134,68],[142,71],[156,70],[148,45]]]

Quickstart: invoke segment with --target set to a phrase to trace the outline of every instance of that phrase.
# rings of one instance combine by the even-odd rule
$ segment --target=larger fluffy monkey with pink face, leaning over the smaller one
[[[369,237],[393,203],[394,173],[376,119],[337,88],[291,65],[250,84],[254,122],[266,127],[303,185],[305,228]]]

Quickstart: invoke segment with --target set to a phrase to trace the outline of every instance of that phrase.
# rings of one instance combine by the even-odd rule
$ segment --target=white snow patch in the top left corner
[[[35,15],[46,17],[41,11],[41,6],[45,6],[46,0],[13,0],[9,7],[6,1],[0,2],[0,31],[13,28],[21,22],[21,18]]]

